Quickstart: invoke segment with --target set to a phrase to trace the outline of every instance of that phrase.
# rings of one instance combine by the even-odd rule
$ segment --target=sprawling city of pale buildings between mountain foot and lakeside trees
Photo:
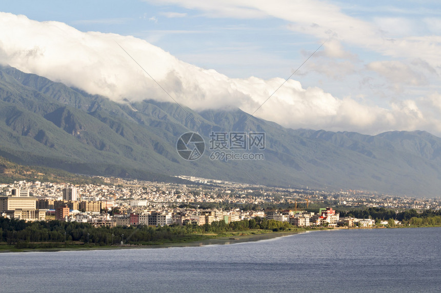
[[[0,184],[3,217],[90,223],[95,227],[226,223],[256,217],[294,226],[372,227],[374,219],[340,217],[336,208],[439,210],[439,198],[411,198],[347,190],[263,187],[184,177],[183,184],[102,177],[106,185],[26,182]],[[395,221],[395,224],[399,224]],[[378,222],[377,222],[378,224]],[[380,221],[379,224],[388,224]]]

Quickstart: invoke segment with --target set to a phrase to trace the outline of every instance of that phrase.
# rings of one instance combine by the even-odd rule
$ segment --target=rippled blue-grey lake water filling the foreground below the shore
[[[438,292],[441,228],[166,249],[0,254],[3,292]]]

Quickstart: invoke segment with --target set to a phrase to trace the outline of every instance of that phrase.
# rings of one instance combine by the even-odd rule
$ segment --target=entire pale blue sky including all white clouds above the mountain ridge
[[[437,1],[18,0],[0,11],[1,64],[117,102],[441,136]]]

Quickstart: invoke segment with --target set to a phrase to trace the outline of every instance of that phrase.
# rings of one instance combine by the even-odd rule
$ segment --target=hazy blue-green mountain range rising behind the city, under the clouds
[[[198,160],[176,151],[186,132],[205,141]],[[264,160],[211,160],[212,132],[265,133],[265,149],[252,150]],[[289,129],[240,109],[196,112],[148,96],[117,103],[9,66],[0,67],[0,155],[19,164],[152,181],[193,175],[425,197],[441,188],[441,139],[425,131],[369,136]]]

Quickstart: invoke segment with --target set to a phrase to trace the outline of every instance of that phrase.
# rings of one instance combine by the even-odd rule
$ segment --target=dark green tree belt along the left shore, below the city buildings
[[[164,227],[130,226],[99,227],[89,223],[58,220],[26,222],[24,220],[0,218],[0,242],[17,248],[62,247],[66,243],[89,245],[112,245],[123,241],[125,244],[152,244],[161,241],[182,241],[194,239],[194,233],[223,233],[263,229],[283,231],[292,227],[287,222],[255,219],[234,221],[214,221],[198,226],[172,224]]]

